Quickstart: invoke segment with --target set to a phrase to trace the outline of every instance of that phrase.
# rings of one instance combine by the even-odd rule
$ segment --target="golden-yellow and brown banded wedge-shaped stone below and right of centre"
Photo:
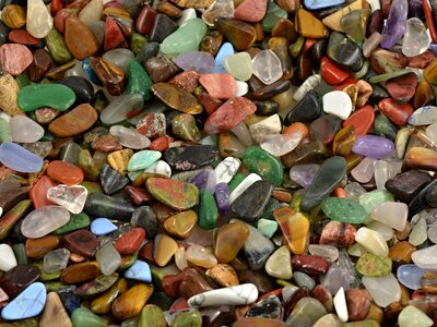
[[[303,254],[309,239],[309,220],[302,213],[291,207],[282,207],[273,211],[273,217],[281,227],[290,250],[294,254]]]

